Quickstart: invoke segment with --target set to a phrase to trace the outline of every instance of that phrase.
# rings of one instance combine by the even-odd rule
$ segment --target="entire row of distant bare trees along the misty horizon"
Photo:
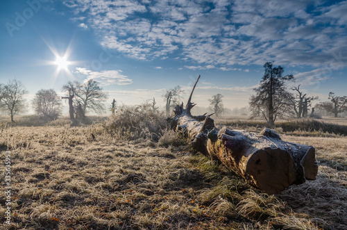
[[[223,113],[230,115],[251,113],[251,118],[263,117],[269,127],[273,127],[276,120],[284,117],[315,117],[316,113],[323,112],[338,117],[339,114],[347,112],[347,96],[337,96],[334,92],[328,95],[330,101],[323,101],[313,107],[312,101],[319,98],[307,95],[301,89],[301,85],[289,88],[287,83],[294,81],[294,76],[285,75],[284,72],[285,69],[280,65],[275,66],[273,62],[265,63],[264,75],[259,86],[254,89],[255,95],[250,97],[249,107],[232,110],[224,108],[223,95],[217,94],[208,99],[209,109],[217,117]],[[37,117],[47,121],[56,120],[62,114],[62,99],[67,100],[69,104],[69,117],[72,121],[85,121],[87,113],[101,114],[105,111],[105,100],[108,99],[108,94],[103,91],[97,81],[92,79],[85,83],[69,81],[62,86],[62,90],[66,92],[65,97],[58,97],[53,89],[42,89],[36,92],[31,106]],[[180,85],[177,85],[162,95],[167,116],[171,115],[174,106],[180,102],[183,92]],[[27,94],[28,91],[22,82],[16,79],[8,81],[5,85],[0,83],[0,110],[10,116],[11,122],[15,122],[15,115],[24,112]],[[146,104],[151,104],[153,110],[158,110],[154,97],[153,100],[147,100]],[[117,101],[113,99],[110,111],[115,114],[116,110]]]

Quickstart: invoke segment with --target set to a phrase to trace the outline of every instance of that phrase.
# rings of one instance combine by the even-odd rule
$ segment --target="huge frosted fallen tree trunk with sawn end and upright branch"
[[[318,163],[314,147],[285,142],[272,129],[264,129],[260,134],[225,127],[219,130],[210,116],[193,116],[191,109],[195,104],[191,100],[196,83],[185,108],[183,104],[177,105],[171,120],[176,130],[187,133],[195,151],[223,163],[268,194],[280,193],[306,179],[316,179]]]

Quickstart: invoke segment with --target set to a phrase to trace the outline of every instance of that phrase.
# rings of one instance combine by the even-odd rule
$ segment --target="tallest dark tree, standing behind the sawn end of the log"
[[[265,63],[264,76],[260,86],[255,88],[249,105],[252,117],[263,116],[269,127],[273,127],[277,117],[289,110],[290,93],[285,88],[285,81],[293,80],[293,75],[283,76],[285,70],[280,65],[273,67],[273,62]]]

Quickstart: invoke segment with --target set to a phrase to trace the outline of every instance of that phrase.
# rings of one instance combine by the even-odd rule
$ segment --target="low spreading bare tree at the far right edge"
[[[344,113],[347,110],[347,96],[338,97],[334,92],[329,92],[328,99],[331,102],[325,101],[317,105],[319,108],[325,109],[329,113],[333,113],[335,117],[339,113]]]

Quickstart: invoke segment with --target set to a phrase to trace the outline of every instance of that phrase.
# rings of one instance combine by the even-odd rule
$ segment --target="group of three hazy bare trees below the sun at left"
[[[86,113],[103,113],[105,110],[105,99],[108,94],[103,92],[99,83],[89,80],[85,83],[78,81],[68,82],[63,85],[68,97],[58,97],[53,89],[39,90],[36,92],[31,106],[35,115],[42,120],[56,120],[62,113],[62,99],[69,99],[69,113],[71,120],[86,120]],[[6,85],[0,84],[0,109],[10,115],[11,122],[15,122],[15,115],[25,112],[28,105],[25,96],[28,91],[21,81],[16,79],[8,81]],[[115,101],[114,101],[115,102]],[[115,104],[114,104],[115,106]]]

